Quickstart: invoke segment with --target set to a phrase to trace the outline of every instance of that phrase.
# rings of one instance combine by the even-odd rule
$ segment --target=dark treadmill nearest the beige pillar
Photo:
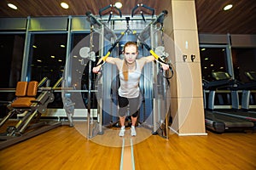
[[[247,128],[253,129],[254,123],[252,121],[241,117],[230,116],[223,111],[214,111],[216,91],[228,89],[232,92],[232,88],[234,86],[236,87],[236,81],[232,80],[228,73],[222,71],[212,72],[212,77],[215,77],[215,81],[208,82],[203,80],[206,127],[216,133]],[[206,95],[207,90],[209,90],[208,100]],[[231,96],[234,96],[234,94],[231,93]]]

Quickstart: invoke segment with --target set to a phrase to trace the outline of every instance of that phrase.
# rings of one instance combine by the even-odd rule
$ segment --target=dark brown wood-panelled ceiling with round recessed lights
[[[61,8],[61,2],[69,8]],[[122,14],[131,14],[137,4],[145,4],[155,9],[155,14],[171,6],[171,0],[3,0],[0,1],[0,17],[27,16],[59,16],[84,15],[87,11],[99,14],[99,9],[120,2]],[[7,3],[13,3],[17,9],[9,8]],[[232,3],[233,8],[224,11],[225,5]],[[256,34],[256,1],[255,0],[195,0],[197,24],[199,33],[212,34]],[[151,14],[147,8],[139,7],[135,14]],[[108,8],[102,14],[119,14],[115,8]]]

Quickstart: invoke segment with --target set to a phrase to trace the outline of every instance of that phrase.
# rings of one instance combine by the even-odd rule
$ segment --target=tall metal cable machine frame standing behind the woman
[[[170,64],[167,59],[168,54],[165,52],[163,40],[163,21],[167,14],[164,10],[159,15],[141,16],[134,15],[135,10],[139,6],[132,9],[132,15],[123,16],[119,11],[119,16],[102,16],[102,12],[113,6],[100,9],[100,18],[90,12],[86,13],[90,20],[90,47],[79,48],[79,55],[82,59],[73,59],[71,54],[70,61],[67,62],[65,69],[65,83],[62,88],[70,88],[76,90],[62,91],[62,99],[64,108],[70,121],[73,122],[73,113],[76,109],[86,110],[87,113],[87,138],[93,138],[98,134],[104,133],[104,127],[119,126],[117,89],[119,88],[118,70],[115,65],[104,65],[104,60],[108,56],[122,58],[121,49],[125,42],[137,42],[139,56],[153,55],[156,62],[144,65],[142,77],[139,82],[141,92],[143,93],[143,104],[139,110],[138,123],[142,127],[151,129],[153,134],[168,139],[168,124],[170,117],[170,84],[169,79],[172,78],[173,71],[170,65],[170,71],[162,71],[160,62]],[[143,6],[144,7],[144,6]],[[149,8],[149,7],[144,7]],[[116,9],[116,8],[113,8]],[[151,9],[151,8],[150,8]],[[97,49],[96,49],[97,48]],[[94,51],[96,50],[96,51]],[[95,75],[91,72],[93,66],[96,66],[103,56],[102,71]],[[86,88],[81,85],[81,72],[85,67],[88,68],[88,84]],[[85,60],[85,61],[84,61]],[[80,62],[81,65],[75,65]],[[102,64],[101,63],[101,64]],[[78,93],[78,90],[80,93]],[[86,102],[80,102],[83,98],[81,93],[85,93]],[[91,99],[94,98],[94,99]],[[79,100],[77,100],[79,99]],[[92,104],[97,104],[96,108],[92,108]],[[93,115],[93,109],[96,109],[96,117]]]

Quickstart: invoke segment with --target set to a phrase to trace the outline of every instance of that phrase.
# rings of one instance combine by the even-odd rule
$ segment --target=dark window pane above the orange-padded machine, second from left
[[[53,86],[61,77],[66,63],[67,34],[32,34],[27,65],[29,81],[44,77]]]

